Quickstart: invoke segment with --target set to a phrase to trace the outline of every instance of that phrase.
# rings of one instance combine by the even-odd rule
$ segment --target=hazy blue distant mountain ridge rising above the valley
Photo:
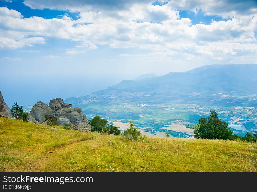
[[[159,92],[204,95],[231,92],[230,95],[257,94],[257,65],[209,65],[191,71],[159,77],[123,80],[108,89],[118,92]]]

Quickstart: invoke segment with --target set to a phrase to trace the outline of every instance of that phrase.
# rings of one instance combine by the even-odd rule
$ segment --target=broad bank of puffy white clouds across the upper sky
[[[61,4],[50,0],[25,0],[24,3],[32,8],[78,9],[81,11],[78,20],[68,15],[53,19],[24,18],[18,11],[1,7],[0,48],[31,46],[44,43],[45,38],[52,37],[78,41],[81,45],[77,45],[77,48],[97,49],[101,45],[109,45],[111,48],[148,50],[149,53],[134,55],[137,58],[160,56],[229,62],[247,56],[256,61],[257,13],[254,13],[253,6],[245,5],[240,10],[238,6],[241,4],[234,3],[228,7],[226,15],[220,7],[230,5],[229,1],[169,1],[163,6],[153,6],[150,1],[136,4],[125,1],[115,4],[115,1],[114,10],[107,9],[111,6],[108,3],[96,10],[98,4],[94,1],[88,1],[90,3],[87,4],[79,0],[76,2],[63,1]],[[249,2],[252,5],[252,1]],[[83,10],[85,6],[92,9]],[[229,16],[230,19],[193,25],[189,18],[180,18],[179,9],[196,12],[202,9],[207,15]],[[245,10],[250,11],[246,14]],[[65,52],[70,55],[79,53],[85,52]]]

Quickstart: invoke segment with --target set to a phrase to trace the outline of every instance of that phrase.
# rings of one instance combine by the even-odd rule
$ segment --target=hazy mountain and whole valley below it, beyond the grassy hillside
[[[192,137],[186,124],[195,124],[216,109],[235,134],[257,128],[257,65],[208,65],[162,76],[123,80],[87,96],[67,98],[88,118],[100,115],[121,130],[129,121],[143,134]]]

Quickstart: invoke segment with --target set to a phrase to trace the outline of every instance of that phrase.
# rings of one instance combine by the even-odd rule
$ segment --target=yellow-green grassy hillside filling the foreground
[[[0,118],[0,171],[257,171],[257,144],[100,135]]]

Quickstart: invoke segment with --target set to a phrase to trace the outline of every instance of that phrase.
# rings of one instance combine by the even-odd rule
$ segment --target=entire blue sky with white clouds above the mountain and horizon
[[[27,106],[147,73],[256,64],[256,38],[255,0],[0,0],[0,90]]]

